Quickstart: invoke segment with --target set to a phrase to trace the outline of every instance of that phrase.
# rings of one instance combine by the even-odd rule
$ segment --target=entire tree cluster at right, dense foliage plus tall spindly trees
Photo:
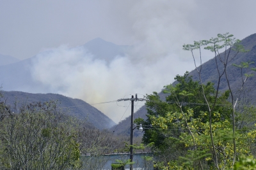
[[[238,90],[230,86],[227,71],[238,53],[247,52],[241,41],[232,34],[218,34],[216,38],[183,45],[183,49],[191,52],[198,80],[193,81],[188,72],[177,75],[174,85],[164,87],[163,92],[169,94],[166,100],[162,101],[156,92],[148,95],[148,118],[136,120],[148,127],[143,142],[154,142],[152,149],[158,156],[156,167],[219,170],[254,164],[255,160],[248,156],[255,153],[256,128],[252,116],[256,111],[255,106],[242,106],[241,99],[246,97],[245,82],[256,69],[250,67],[252,62],[233,64],[241,69],[241,75],[237,75],[237,79],[242,80]],[[225,52],[220,53],[221,49]],[[197,58],[195,50],[200,54]],[[210,50],[215,55],[218,73],[215,88],[211,82],[203,83],[202,50]],[[196,66],[196,59],[200,60],[200,66]],[[226,91],[220,90],[221,83],[227,83]]]

